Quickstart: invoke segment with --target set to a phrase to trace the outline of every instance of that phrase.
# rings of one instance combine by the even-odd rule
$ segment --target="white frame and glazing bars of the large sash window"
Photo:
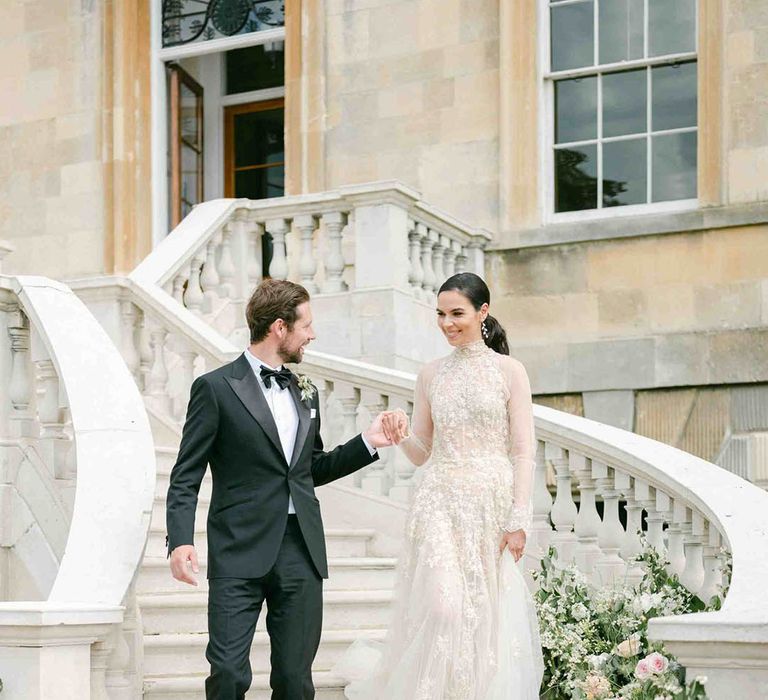
[[[580,0],[557,0],[558,5],[570,5],[575,4],[579,2]],[[620,61],[618,63],[606,63],[606,64],[599,64],[598,58],[599,58],[599,49],[600,49],[600,37],[598,34],[598,26],[597,26],[597,18],[599,16],[600,12],[600,2],[601,0],[593,0],[595,3],[595,26],[594,26],[594,60],[595,65],[592,66],[585,66],[583,68],[573,68],[568,70],[561,70],[561,71],[552,71],[551,66],[551,34],[550,34],[550,0],[539,0],[539,66],[541,67],[539,70],[539,104],[541,105],[541,117],[540,117],[540,134],[539,134],[539,143],[541,146],[540,150],[540,163],[539,163],[539,172],[541,174],[540,178],[540,201],[542,203],[542,211],[541,211],[541,218],[542,221],[546,224],[559,224],[559,223],[567,223],[570,221],[591,221],[591,220],[601,220],[601,219],[613,219],[617,217],[622,216],[637,216],[637,215],[646,215],[646,214],[661,214],[661,213],[672,213],[672,212],[684,212],[684,211],[691,211],[694,209],[697,209],[699,206],[699,199],[698,196],[691,199],[676,199],[668,202],[650,202],[650,203],[644,203],[644,204],[627,204],[623,206],[618,207],[602,207],[597,209],[583,209],[579,211],[569,211],[569,212],[556,212],[555,211],[555,133],[554,133],[554,123],[555,123],[555,81],[556,80],[563,80],[567,78],[576,78],[576,77],[589,77],[589,76],[600,76],[604,73],[613,73],[617,70],[630,70],[632,68],[647,68],[648,66],[655,66],[655,65],[667,65],[669,63],[674,62],[690,62],[695,61],[697,64],[697,67],[699,65],[698,59],[699,59],[699,33],[698,33],[698,25],[699,25],[699,11],[698,11],[698,0],[696,1],[696,13],[695,13],[695,23],[696,26],[694,28],[694,36],[696,41],[696,46],[694,51],[686,52],[686,53],[680,53],[680,54],[667,54],[661,58],[659,57],[650,57],[650,58],[642,58],[642,59],[633,59],[628,61]],[[644,53],[647,54],[647,48],[648,48],[648,0],[644,0],[644,12],[645,12],[645,32],[644,32],[644,44],[645,44],[645,50]],[[648,71],[647,71],[648,72]],[[598,119],[598,125],[602,122],[602,90],[600,88],[601,81],[598,79],[598,104],[597,104],[597,119]],[[696,99],[698,102],[699,99],[699,90],[697,85],[696,90]],[[650,112],[651,109],[651,100],[650,96],[647,100],[647,109]],[[650,120],[646,123],[646,128],[650,127]],[[600,133],[601,129],[598,128],[598,133]],[[669,129],[665,131],[654,131],[649,132],[646,131],[646,137],[650,136],[650,133],[653,133],[654,135],[662,135],[665,133],[676,133],[676,132],[696,132],[698,134],[699,131],[699,123],[697,118],[697,123],[695,127],[685,127],[682,129]],[[619,136],[619,137],[609,137],[607,139],[601,138],[597,139],[598,143],[603,143],[606,141],[620,141],[627,138],[637,138],[638,134],[632,134],[630,136]],[[592,139],[592,141],[595,141],[595,139]],[[575,142],[577,143],[577,142]],[[580,143],[580,142],[578,142]],[[559,144],[563,145],[563,144]],[[602,162],[602,156],[600,153],[601,149],[598,146],[598,159],[597,159],[597,179],[598,182],[602,179],[602,168],[603,168],[603,162]],[[647,178],[646,178],[646,186],[648,187],[648,190],[650,191],[651,188],[651,163],[650,163],[650,149],[648,150],[648,165],[647,165]],[[697,194],[698,194],[698,181],[697,181]],[[598,196],[598,207],[600,207],[601,201],[600,197]]]

